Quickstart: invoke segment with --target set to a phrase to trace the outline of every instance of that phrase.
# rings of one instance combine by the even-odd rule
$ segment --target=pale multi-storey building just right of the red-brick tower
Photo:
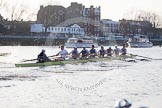
[[[119,33],[120,23],[117,21],[112,21],[108,19],[101,20],[101,30],[103,36],[114,36]]]

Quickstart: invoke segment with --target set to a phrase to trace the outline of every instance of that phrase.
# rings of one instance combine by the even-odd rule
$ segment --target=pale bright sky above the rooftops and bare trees
[[[4,0],[8,1],[8,7],[14,7],[13,5],[24,8],[26,14],[31,14],[30,19],[36,19],[36,14],[40,8],[40,5],[62,5],[69,6],[71,2],[82,3],[86,7],[94,5],[94,7],[101,6],[101,18],[112,19],[118,21],[123,17],[127,17],[128,13],[136,10],[144,10],[155,12],[162,16],[162,1],[161,0]],[[12,9],[0,10],[2,16],[11,17],[7,15]],[[17,12],[19,9],[17,9]],[[16,12],[16,11],[15,11]],[[27,17],[24,15],[24,17]],[[10,19],[10,18],[9,18]]]

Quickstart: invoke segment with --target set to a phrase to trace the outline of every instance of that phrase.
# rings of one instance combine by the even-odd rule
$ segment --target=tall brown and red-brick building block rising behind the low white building
[[[75,20],[73,18],[81,18]],[[101,9],[100,7],[85,8],[82,4],[72,2],[67,8],[63,6],[47,6],[40,7],[37,15],[37,23],[44,24],[45,31],[50,26],[57,26],[63,22],[66,22],[66,26],[72,24],[78,24],[84,28],[86,35],[100,36],[100,18]],[[71,19],[71,20],[70,20]]]

